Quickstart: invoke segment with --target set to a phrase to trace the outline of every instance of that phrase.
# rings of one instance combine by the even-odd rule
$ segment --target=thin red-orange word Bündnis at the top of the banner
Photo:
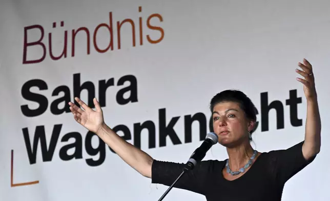
[[[138,12],[139,13],[142,12],[141,6],[138,7]],[[147,22],[146,21],[144,21],[144,22],[146,22],[146,25],[150,30],[157,30],[160,32],[160,37],[158,39],[151,39],[150,35],[146,35],[146,34],[143,35],[144,23],[143,23],[142,16],[139,16],[138,18],[136,18],[137,19],[136,23],[138,23],[138,25],[137,25],[138,30],[135,30],[134,21],[133,21],[133,19],[130,19],[130,18],[126,18],[123,21],[115,21],[117,23],[114,24],[115,27],[113,27],[112,12],[109,12],[109,23],[100,23],[95,27],[94,30],[89,30],[87,27],[79,27],[79,28],[72,29],[72,30],[64,30],[64,32],[63,32],[64,33],[63,49],[61,49],[61,46],[60,46],[60,49],[59,49],[60,52],[56,53],[56,54],[54,52],[57,52],[58,48],[55,47],[54,45],[59,45],[59,44],[62,45],[62,44],[58,43],[58,42],[56,42],[56,43],[54,42],[54,39],[55,39],[54,33],[52,33],[52,32],[46,33],[48,35],[48,37],[46,37],[46,41],[43,41],[44,35],[45,35],[45,30],[42,26],[32,25],[32,26],[24,27],[23,64],[40,63],[45,60],[47,53],[49,53],[50,59],[55,60],[55,61],[59,60],[60,58],[66,58],[67,54],[68,54],[67,53],[68,48],[70,48],[70,45],[71,45],[71,57],[75,56],[76,45],[85,44],[85,43],[87,44],[87,55],[89,55],[91,53],[91,49],[90,49],[91,48],[91,39],[93,39],[92,46],[94,46],[94,49],[96,52],[105,53],[109,50],[111,50],[111,51],[114,50],[114,45],[116,43],[116,39],[117,39],[117,48],[119,50],[119,49],[121,49],[122,43],[124,41],[122,39],[122,36],[123,36],[122,34],[125,34],[125,33],[123,33],[123,31],[132,33],[132,46],[133,47],[136,46],[135,31],[137,32],[137,34],[139,34],[137,39],[139,40],[139,44],[141,46],[143,45],[143,38],[145,36],[147,36],[149,43],[151,43],[151,44],[159,43],[164,38],[164,30],[160,26],[151,25],[152,18],[154,18],[154,17],[158,18],[158,20],[160,22],[163,21],[162,16],[160,14],[156,13],[156,14],[150,15],[147,19]],[[128,25],[128,27],[124,26],[125,30],[122,30],[121,28],[123,28],[124,24],[130,24],[130,25]],[[52,22],[51,25],[52,25],[52,28],[56,28],[56,22]],[[57,24],[57,25],[59,25],[59,24]],[[60,27],[64,27],[64,21],[60,22]],[[130,27],[132,29],[130,29]],[[109,44],[105,48],[103,48],[103,47],[100,48],[99,47],[100,45],[97,44],[97,42],[98,42],[97,37],[101,37],[101,36],[98,36],[97,34],[99,33],[99,30],[101,28],[106,28],[107,30],[109,30],[109,34],[110,34]],[[117,28],[117,30],[114,30],[116,28]],[[28,31],[31,31],[31,30],[33,31],[33,33],[30,33],[30,35],[32,35],[32,34],[35,35],[35,32],[40,30],[40,38],[37,41],[29,42]],[[83,33],[83,35],[78,36],[79,32],[86,33],[86,42],[85,42],[85,34]],[[106,32],[108,32],[108,31],[106,31]],[[113,34],[116,34],[116,32],[117,32],[117,38],[113,35]],[[93,35],[90,35],[90,33]],[[125,34],[125,36],[126,35],[129,35],[129,34]],[[76,36],[78,36],[78,38]],[[91,37],[93,37],[93,38],[91,38]],[[70,39],[71,39],[71,42],[70,42]],[[35,39],[31,39],[31,36],[30,36],[30,41],[31,40],[35,40]],[[128,40],[130,41],[130,38],[128,38]],[[42,47],[42,50],[43,50],[42,55],[40,55],[40,53],[37,54],[38,52],[41,52],[41,51],[38,51],[38,49],[37,49],[37,48],[39,48],[39,46]],[[46,46],[48,46],[48,47],[46,47]],[[28,55],[28,47],[30,47],[30,52],[32,51],[31,49],[34,50],[33,54],[30,53],[30,55],[37,54],[37,56],[34,56],[34,58],[30,58],[31,56],[29,57],[29,55]],[[79,50],[81,50],[80,47],[79,47]],[[85,46],[83,48],[83,51],[84,50],[85,50]],[[47,51],[49,51],[49,52],[47,52]],[[38,56],[38,55],[40,55],[40,56]]]

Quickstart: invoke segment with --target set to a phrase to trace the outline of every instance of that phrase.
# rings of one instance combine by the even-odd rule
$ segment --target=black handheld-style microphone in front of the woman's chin
[[[209,149],[218,143],[218,135],[210,132],[205,137],[204,142],[193,152],[188,162],[185,164],[183,171],[192,170],[198,162],[200,162],[209,151]]]

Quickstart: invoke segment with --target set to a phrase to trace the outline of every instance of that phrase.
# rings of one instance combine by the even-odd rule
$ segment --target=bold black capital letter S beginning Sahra
[[[37,109],[30,109],[28,105],[20,106],[20,110],[22,113],[27,117],[34,117],[43,114],[46,112],[48,107],[48,100],[47,97],[31,92],[32,87],[37,87],[39,90],[47,90],[47,84],[42,79],[31,79],[30,81],[26,82],[21,90],[22,97],[36,102],[39,104]]]

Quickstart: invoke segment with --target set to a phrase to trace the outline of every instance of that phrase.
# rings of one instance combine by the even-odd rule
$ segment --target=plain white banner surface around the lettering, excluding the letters
[[[138,7],[142,6],[142,12]],[[253,146],[258,151],[285,149],[303,140],[306,102],[301,83],[296,81],[297,63],[307,58],[314,67],[316,87],[322,119],[322,148],[315,161],[289,180],[283,191],[283,200],[329,200],[328,172],[330,120],[328,100],[328,74],[330,73],[330,2],[328,1],[2,1],[0,6],[0,198],[1,200],[158,200],[167,187],[151,184],[151,180],[135,170],[107,148],[106,160],[98,167],[90,167],[85,159],[64,162],[58,157],[60,138],[77,131],[87,130],[78,125],[71,113],[53,115],[50,109],[37,117],[28,118],[20,105],[38,105],[21,95],[23,84],[30,79],[43,79],[48,90],[34,92],[45,95],[49,104],[58,97],[51,96],[60,85],[66,85],[73,96],[73,74],[80,73],[81,82],[98,81],[114,77],[115,83],[127,74],[133,74],[138,83],[138,102],[127,105],[116,103],[116,92],[123,88],[111,87],[107,91],[105,120],[111,127],[127,125],[131,132],[134,123],[153,120],[156,126],[156,148],[148,149],[147,133],[142,137],[142,150],[159,160],[185,162],[198,141],[198,125],[193,127],[193,143],[167,147],[158,144],[158,109],[166,108],[167,123],[181,116],[175,126],[184,142],[183,116],[203,112],[209,117],[209,102],[213,95],[225,89],[240,89],[252,98],[260,111],[260,93],[268,92],[269,101],[285,104],[289,91],[297,89],[302,104],[298,104],[298,117],[303,126],[290,124],[290,110],[284,105],[284,129],[276,129],[275,112],[270,112],[270,130],[254,133]],[[132,47],[131,29],[121,30],[121,49],[97,53],[91,45],[86,54],[86,35],[76,38],[75,56],[71,57],[71,30],[87,27],[91,33],[100,23],[113,26],[117,21],[131,18],[136,26],[136,47]],[[157,39],[158,31],[148,30],[149,15],[158,13],[163,22],[154,18],[151,23],[164,30],[158,44],[147,42],[146,35]],[[138,17],[143,19],[143,45],[139,45]],[[64,28],[59,27],[65,22]],[[52,23],[57,22],[57,28]],[[53,52],[58,55],[63,47],[64,30],[68,30],[68,57],[38,64],[23,65],[24,27],[41,25],[45,29],[44,43],[48,47],[48,33],[53,36]],[[103,29],[105,30],[105,29]],[[29,32],[30,33],[30,32]],[[31,32],[35,41],[40,32]],[[92,38],[91,38],[92,42]],[[109,35],[99,31],[97,43],[107,47]],[[38,58],[40,49],[28,50]],[[87,93],[81,93],[87,98]],[[87,100],[87,99],[86,99]],[[63,103],[64,104],[64,103]],[[260,120],[260,115],[258,115]],[[38,148],[37,163],[29,165],[22,128],[34,133],[37,125],[45,125],[50,139],[55,124],[63,124],[52,162],[43,163]],[[133,133],[132,133],[133,136]],[[30,139],[33,136],[30,134]],[[96,137],[94,143],[97,146]],[[84,142],[84,141],[83,141]],[[133,142],[130,140],[129,142]],[[72,142],[71,142],[72,143]],[[36,185],[10,187],[10,152],[14,150],[14,183],[39,180]],[[179,154],[178,154],[179,153]],[[97,158],[98,156],[94,156]],[[213,146],[204,159],[225,159],[220,145]],[[219,189],[221,193],[221,189]],[[255,192],[257,193],[257,192]],[[172,189],[167,200],[204,200],[202,195]]]

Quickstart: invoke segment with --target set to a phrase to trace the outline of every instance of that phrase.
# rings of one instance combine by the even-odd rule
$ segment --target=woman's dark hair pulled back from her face
[[[211,113],[213,113],[214,106],[221,102],[238,103],[240,108],[244,111],[245,116],[256,122],[257,108],[252,103],[251,99],[248,96],[246,96],[243,92],[239,90],[224,90],[216,94],[211,99],[211,104],[210,104]],[[255,124],[254,128],[250,131],[250,133],[252,134],[256,128],[257,125]],[[250,138],[250,140],[252,140],[252,138]]]

